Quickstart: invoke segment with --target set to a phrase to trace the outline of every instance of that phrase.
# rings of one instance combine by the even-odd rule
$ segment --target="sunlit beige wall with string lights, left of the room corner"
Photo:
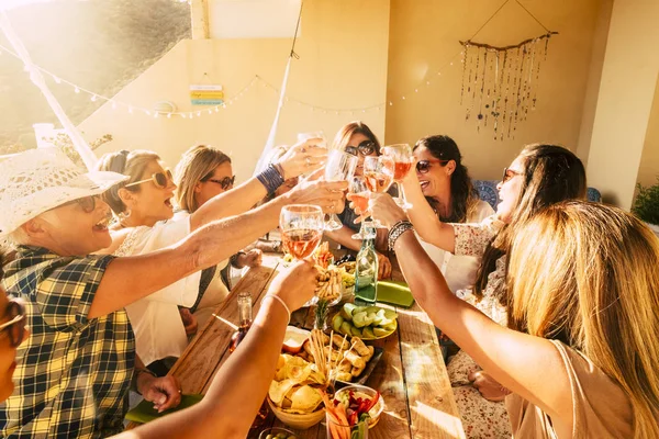
[[[332,0],[305,2],[303,33],[295,47],[288,94],[316,106],[353,109],[386,100],[388,57],[388,0]],[[190,83],[221,83],[227,95],[237,93],[255,75],[277,88],[282,80],[290,38],[183,41],[122,90],[116,99],[152,108],[169,100],[180,110],[198,111],[189,103]],[[204,77],[208,74],[208,78]],[[102,106],[80,128],[86,138],[105,133],[114,140],[99,154],[123,148],[147,148],[170,167],[196,143],[209,143],[233,153],[238,180],[252,175],[268,137],[278,94],[257,82],[226,110],[205,116],[153,119]],[[346,122],[361,119],[378,135],[384,133],[384,113],[312,111],[286,104],[277,143],[293,143],[298,132],[323,130],[327,137]]]

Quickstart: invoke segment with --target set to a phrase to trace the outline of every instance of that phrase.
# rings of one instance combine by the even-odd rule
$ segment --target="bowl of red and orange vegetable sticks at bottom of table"
[[[336,407],[343,406],[350,425],[366,419],[368,428],[373,428],[384,410],[384,399],[380,392],[360,384],[340,389],[334,394],[333,401]]]

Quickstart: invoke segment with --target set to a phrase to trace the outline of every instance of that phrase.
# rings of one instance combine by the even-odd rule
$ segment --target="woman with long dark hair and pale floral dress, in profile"
[[[405,214],[390,198],[378,196],[375,211],[386,217],[383,224],[393,225],[409,216],[424,241],[454,255],[481,258],[473,288],[458,291],[457,296],[501,326],[507,325],[506,254],[517,229],[547,206],[583,199],[587,190],[581,160],[563,147],[541,144],[526,146],[505,169],[498,185],[501,203],[496,214],[480,224],[442,222],[424,202],[415,172],[407,175],[403,187],[413,207]],[[466,431],[473,438],[510,437],[502,403],[510,392],[480,369],[465,351],[447,367]]]

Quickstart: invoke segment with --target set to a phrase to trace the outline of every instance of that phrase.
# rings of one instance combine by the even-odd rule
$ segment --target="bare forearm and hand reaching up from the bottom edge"
[[[311,299],[315,275],[310,262],[298,262],[272,281],[268,295],[295,309]],[[266,299],[247,336],[222,365],[201,403],[118,439],[246,437],[272,381],[288,317],[277,299]]]

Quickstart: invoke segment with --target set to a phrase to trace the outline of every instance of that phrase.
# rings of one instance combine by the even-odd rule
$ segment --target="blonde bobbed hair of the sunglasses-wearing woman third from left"
[[[178,206],[190,213],[197,211],[194,187],[213,177],[215,168],[227,161],[231,164],[231,158],[213,146],[197,145],[183,153],[174,172]]]

